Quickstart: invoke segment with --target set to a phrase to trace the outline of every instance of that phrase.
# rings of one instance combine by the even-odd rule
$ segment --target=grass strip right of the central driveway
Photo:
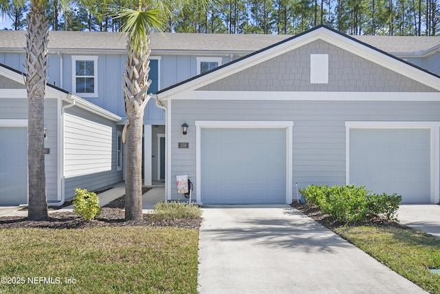
[[[440,293],[440,239],[397,227],[340,227],[336,233],[423,290]]]

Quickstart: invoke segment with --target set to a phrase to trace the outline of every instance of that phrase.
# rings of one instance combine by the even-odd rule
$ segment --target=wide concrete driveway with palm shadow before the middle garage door
[[[426,293],[287,205],[203,208],[199,293]]]

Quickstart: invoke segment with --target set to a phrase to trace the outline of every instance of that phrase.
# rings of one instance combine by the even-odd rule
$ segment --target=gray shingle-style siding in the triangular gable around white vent
[[[329,83],[310,82],[310,54],[329,54]],[[298,92],[437,92],[331,45],[314,41],[199,90]]]

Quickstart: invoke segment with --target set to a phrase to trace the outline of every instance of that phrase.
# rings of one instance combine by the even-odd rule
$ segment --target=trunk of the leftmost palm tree
[[[28,34],[26,36],[29,220],[47,219],[43,135],[47,70],[47,23],[43,8],[33,6],[28,13]]]

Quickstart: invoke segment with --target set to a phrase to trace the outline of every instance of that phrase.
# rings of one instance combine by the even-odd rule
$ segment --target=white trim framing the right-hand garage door
[[[430,201],[440,201],[440,122],[438,121],[346,121],[345,181],[350,184],[350,129],[430,129]]]

